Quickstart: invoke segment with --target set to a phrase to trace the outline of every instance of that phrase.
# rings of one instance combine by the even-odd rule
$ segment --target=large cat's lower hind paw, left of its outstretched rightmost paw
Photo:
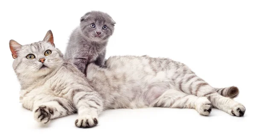
[[[198,111],[200,115],[207,116],[211,113],[212,111],[212,104],[211,102],[207,99],[207,97],[200,97],[197,100],[197,105],[195,109]]]

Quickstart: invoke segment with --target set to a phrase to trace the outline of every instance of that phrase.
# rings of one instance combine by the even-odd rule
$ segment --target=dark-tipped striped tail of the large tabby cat
[[[224,97],[230,97],[230,98],[235,98],[239,94],[239,89],[236,86],[230,86],[226,88],[215,88],[215,91],[217,91],[219,94],[221,94]]]

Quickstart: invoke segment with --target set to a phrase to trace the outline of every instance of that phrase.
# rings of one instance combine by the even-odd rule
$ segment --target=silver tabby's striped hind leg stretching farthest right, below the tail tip
[[[236,102],[233,99],[224,97],[216,89],[210,86],[207,82],[201,78],[191,75],[188,78],[184,78],[181,88],[188,94],[196,96],[204,96],[209,99],[213,107],[218,108],[222,111],[227,112],[234,116],[243,116],[245,108],[241,103]]]

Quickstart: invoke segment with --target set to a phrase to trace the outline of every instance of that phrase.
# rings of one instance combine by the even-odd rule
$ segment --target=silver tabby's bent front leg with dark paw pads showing
[[[47,124],[51,119],[64,117],[75,112],[75,108],[64,98],[52,97],[52,95],[41,95],[35,98],[33,113],[37,122]]]

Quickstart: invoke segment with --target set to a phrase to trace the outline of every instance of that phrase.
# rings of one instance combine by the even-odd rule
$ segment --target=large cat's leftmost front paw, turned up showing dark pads
[[[53,114],[53,110],[45,105],[40,105],[38,108],[35,108],[34,111],[34,119],[37,122],[47,124],[50,122],[51,115]]]

